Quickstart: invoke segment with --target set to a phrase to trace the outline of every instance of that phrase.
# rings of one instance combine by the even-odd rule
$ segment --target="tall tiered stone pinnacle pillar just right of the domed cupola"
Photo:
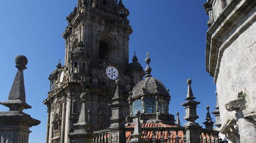
[[[184,124],[185,130],[186,130],[186,141],[187,143],[200,143],[200,126],[198,123],[195,122],[196,119],[198,119],[198,116],[196,115],[196,105],[200,104],[200,102],[194,101],[195,97],[192,92],[191,88],[192,80],[187,80],[188,85],[188,93],[185,100],[188,100],[181,105],[185,107],[186,109],[186,116],[184,119],[186,119],[188,122]]]

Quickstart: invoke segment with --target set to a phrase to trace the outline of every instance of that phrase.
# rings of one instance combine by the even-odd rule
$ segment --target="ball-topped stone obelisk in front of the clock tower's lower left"
[[[91,130],[92,125],[89,123],[87,109],[86,109],[86,99],[88,98],[87,93],[82,93],[81,96],[81,111],[78,119],[78,123],[74,124],[76,129],[74,133],[68,134],[70,137],[70,143],[92,143],[93,142],[93,132]]]

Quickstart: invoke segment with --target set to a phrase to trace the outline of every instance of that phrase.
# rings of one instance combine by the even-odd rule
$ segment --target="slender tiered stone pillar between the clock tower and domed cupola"
[[[122,120],[124,120],[123,106],[125,104],[124,99],[121,98],[121,91],[119,86],[119,80],[117,79],[116,92],[112,98],[111,103],[112,117],[110,118],[111,125],[109,126],[111,143],[123,143],[125,139],[124,124],[122,124]]]

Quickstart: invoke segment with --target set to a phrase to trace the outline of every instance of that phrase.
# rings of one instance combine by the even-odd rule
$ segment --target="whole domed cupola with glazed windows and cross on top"
[[[149,66],[150,58],[148,57],[145,62],[145,79],[135,85],[128,102],[130,104],[130,117],[134,116],[135,111],[142,113],[144,122],[165,122],[174,124],[174,116],[169,115],[169,102],[171,96],[169,89],[166,89],[161,81],[151,76],[151,68]]]

